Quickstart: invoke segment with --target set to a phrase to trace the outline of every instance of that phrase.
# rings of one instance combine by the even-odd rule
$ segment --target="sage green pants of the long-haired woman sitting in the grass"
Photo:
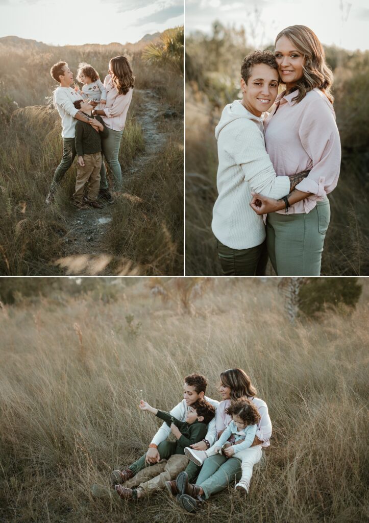
[[[233,481],[238,481],[241,475],[239,459],[216,454],[204,461],[196,484],[202,487],[205,499],[209,499],[211,495],[222,492]]]

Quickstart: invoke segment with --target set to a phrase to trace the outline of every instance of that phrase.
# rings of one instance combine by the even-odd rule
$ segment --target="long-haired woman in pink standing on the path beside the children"
[[[118,155],[134,86],[131,65],[125,56],[115,56],[110,60],[108,75],[105,77],[103,85],[107,90],[106,105],[103,109],[94,109],[93,114],[100,115],[109,128],[108,138],[101,141],[102,152],[113,175],[114,186],[116,189],[120,189],[122,169]],[[99,198],[111,201],[105,166],[102,167],[100,174]]]

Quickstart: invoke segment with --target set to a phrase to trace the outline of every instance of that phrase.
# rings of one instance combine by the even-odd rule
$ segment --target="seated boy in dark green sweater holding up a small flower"
[[[214,418],[215,414],[213,405],[203,399],[199,399],[191,405],[187,410],[186,421],[184,422],[180,422],[168,412],[158,411],[157,408],[151,407],[143,400],[140,402],[140,408],[142,411],[155,414],[170,425],[171,433],[177,441],[166,442],[164,452],[162,448],[164,462],[152,465],[148,469],[151,479],[140,483],[134,489],[123,487],[121,484],[114,486],[116,492],[124,499],[139,499],[143,494],[160,490],[166,487],[166,482],[174,480],[188,464],[188,458],[184,455],[184,448],[193,445],[205,436],[207,424]]]

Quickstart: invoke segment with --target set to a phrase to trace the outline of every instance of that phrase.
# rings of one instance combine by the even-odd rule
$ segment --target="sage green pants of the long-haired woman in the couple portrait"
[[[329,220],[328,198],[307,214],[268,214],[268,254],[277,276],[320,276]]]

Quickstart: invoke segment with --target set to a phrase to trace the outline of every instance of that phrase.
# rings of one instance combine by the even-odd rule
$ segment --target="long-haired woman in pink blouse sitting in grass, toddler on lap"
[[[219,438],[223,433],[232,417],[226,413],[232,400],[240,397],[247,397],[256,407],[260,414],[258,430],[253,441],[252,447],[258,447],[259,452],[255,455],[251,453],[247,462],[242,463],[237,458],[228,458],[223,454],[216,454],[207,458],[202,465],[201,470],[197,465],[190,462],[186,471],[180,472],[176,479],[176,485],[168,485],[168,491],[177,494],[180,505],[189,512],[194,512],[199,508],[201,502],[217,492],[223,491],[230,482],[239,480],[243,469],[247,469],[248,477],[251,478],[252,468],[261,458],[260,447],[269,447],[269,439],[272,435],[272,424],[270,421],[268,406],[256,397],[256,388],[252,385],[246,372],[235,368],[228,369],[221,373],[220,393],[223,401],[216,409],[216,432]],[[233,442],[233,441],[231,441]],[[194,446],[192,446],[194,447]],[[194,480],[195,474],[193,468],[200,470],[197,480]],[[196,481],[195,484],[189,482]],[[170,482],[171,483],[171,482]],[[248,491],[249,485],[245,485],[245,491]]]

